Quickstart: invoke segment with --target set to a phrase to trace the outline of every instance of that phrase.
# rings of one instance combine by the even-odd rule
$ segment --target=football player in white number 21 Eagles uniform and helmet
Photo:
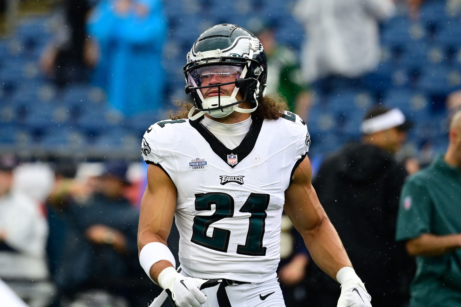
[[[219,24],[195,41],[184,66],[192,104],[142,139],[141,266],[177,307],[285,306],[276,274],[284,210],[341,284],[337,306],[369,307],[311,185],[306,123],[265,97],[267,73],[264,48],[246,29]],[[173,217],[178,270],[166,246]]]

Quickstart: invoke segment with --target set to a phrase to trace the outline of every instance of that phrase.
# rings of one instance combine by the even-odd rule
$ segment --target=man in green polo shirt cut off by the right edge
[[[396,240],[416,256],[410,307],[461,306],[461,111],[445,155],[403,185]]]

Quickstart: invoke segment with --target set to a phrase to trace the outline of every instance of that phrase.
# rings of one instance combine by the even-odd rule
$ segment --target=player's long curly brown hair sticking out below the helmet
[[[187,115],[193,106],[192,101],[183,100],[176,100],[173,104],[175,109],[168,112],[168,115],[172,120],[187,118]],[[251,114],[263,119],[278,119],[283,115],[285,110],[288,110],[285,98],[276,94],[269,94],[261,99],[260,104],[258,104],[258,108]],[[195,111],[194,114],[197,112],[198,111]]]

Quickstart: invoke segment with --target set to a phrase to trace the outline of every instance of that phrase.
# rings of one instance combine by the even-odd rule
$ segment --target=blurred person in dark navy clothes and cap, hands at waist
[[[117,294],[130,306],[140,306],[139,300],[144,304],[151,298],[143,297],[149,295],[150,285],[142,280],[137,260],[139,213],[124,197],[126,168],[124,162],[107,162],[99,191],[67,210],[69,230],[62,248],[66,261],[59,261],[55,280],[71,300]]]

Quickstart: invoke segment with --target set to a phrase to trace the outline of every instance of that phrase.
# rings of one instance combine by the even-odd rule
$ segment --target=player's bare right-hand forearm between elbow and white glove
[[[328,217],[324,216],[315,228],[301,235],[312,260],[331,278],[336,280],[336,274],[341,268],[352,266],[343,243]]]

